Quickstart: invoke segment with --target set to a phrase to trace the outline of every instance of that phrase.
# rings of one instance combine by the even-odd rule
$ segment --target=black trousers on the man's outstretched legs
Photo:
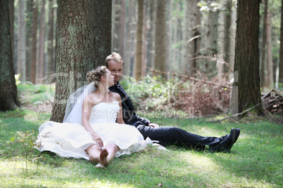
[[[163,146],[178,145],[203,149],[206,145],[211,147],[219,145],[221,140],[220,137],[203,137],[177,127],[153,128],[151,126],[140,125],[137,129],[142,133],[144,139],[149,137],[151,140],[158,140],[159,144]]]

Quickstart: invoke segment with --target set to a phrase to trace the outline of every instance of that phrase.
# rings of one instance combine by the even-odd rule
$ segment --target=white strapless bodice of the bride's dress
[[[119,102],[100,102],[92,107],[89,123],[115,123],[119,112]]]

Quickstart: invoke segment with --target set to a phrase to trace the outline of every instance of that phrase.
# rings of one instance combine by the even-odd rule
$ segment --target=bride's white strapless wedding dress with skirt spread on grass
[[[118,101],[101,102],[92,107],[89,123],[101,136],[103,148],[111,143],[118,145],[120,150],[115,154],[118,157],[138,152],[147,144],[152,144],[149,138],[144,140],[142,134],[134,126],[115,123],[119,109]],[[92,140],[92,135],[80,123],[47,121],[39,127],[36,148],[40,152],[50,151],[58,156],[89,160],[84,150],[94,144],[96,143]]]

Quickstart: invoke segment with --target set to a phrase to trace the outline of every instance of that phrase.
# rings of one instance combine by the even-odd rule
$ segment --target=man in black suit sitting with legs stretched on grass
[[[159,127],[158,124],[152,123],[149,119],[136,114],[132,101],[125,90],[119,83],[124,69],[124,60],[118,53],[112,53],[106,58],[106,67],[111,74],[115,76],[115,85],[109,90],[119,93],[122,99],[122,113],[126,124],[135,126],[140,133],[151,140],[158,140],[161,145],[180,145],[185,147],[193,147],[196,149],[204,149],[206,145],[214,152],[229,152],[234,142],[239,137],[239,128],[232,128],[228,135],[222,137],[203,137],[189,133],[177,127]]]

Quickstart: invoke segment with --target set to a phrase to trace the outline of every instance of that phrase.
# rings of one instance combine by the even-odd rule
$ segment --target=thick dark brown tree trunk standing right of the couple
[[[260,75],[258,54],[260,0],[238,0],[237,32],[234,65],[234,84],[229,111],[243,112],[258,105],[260,100]],[[256,107],[259,115],[263,107]]]

